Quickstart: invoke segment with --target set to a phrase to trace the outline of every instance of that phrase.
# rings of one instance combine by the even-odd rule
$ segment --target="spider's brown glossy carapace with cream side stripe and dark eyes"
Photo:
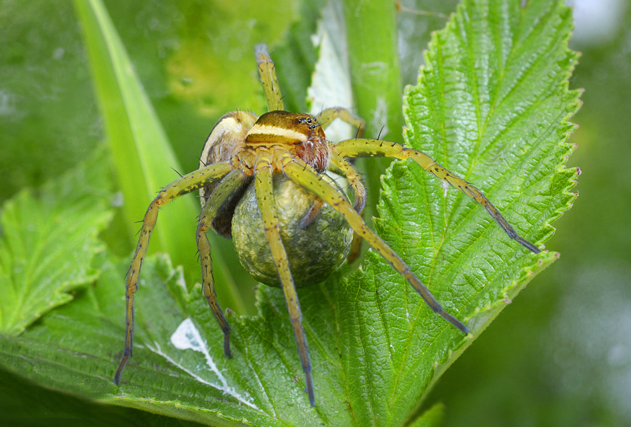
[[[329,166],[329,144],[322,127],[310,114],[271,111],[261,115],[245,137],[252,148],[281,146],[323,172]]]

